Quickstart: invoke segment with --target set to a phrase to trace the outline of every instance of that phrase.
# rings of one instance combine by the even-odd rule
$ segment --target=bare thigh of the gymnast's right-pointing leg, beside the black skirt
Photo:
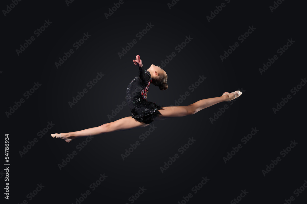
[[[159,110],[161,115],[156,117],[154,120],[164,120],[171,117],[183,117],[187,115],[192,115],[192,106],[167,106]]]

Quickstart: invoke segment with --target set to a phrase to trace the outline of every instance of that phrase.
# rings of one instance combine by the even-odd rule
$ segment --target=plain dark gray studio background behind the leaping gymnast
[[[106,180],[81,203],[131,203],[129,197],[143,186],[147,190],[134,203],[178,203],[183,196],[193,194],[192,187],[206,176],[208,183],[187,203],[229,203],[244,189],[249,193],[240,203],[284,203],[290,196],[295,197],[293,203],[304,203],[307,192],[296,197],[293,191],[307,179],[306,87],[296,95],[290,92],[306,77],[304,7],[284,1],[272,13],[269,6],[273,1],[231,0],[208,22],[206,16],[222,2],[179,1],[169,9],[167,3],[171,1],[124,1],[106,19],[104,13],[118,1],[74,1],[69,6],[65,1],[21,1],[3,15],[1,134],[3,140],[4,134],[10,134],[9,202],[76,203],[76,198],[91,190],[89,186],[104,173]],[[1,8],[11,3],[3,1]],[[45,20],[52,24],[18,56],[15,50]],[[137,39],[135,35],[147,23],[153,28]],[[239,42],[238,37],[249,26],[255,31]],[[72,45],[87,32],[91,37],[56,69],[54,63],[59,57],[73,49]],[[193,39],[177,53],[175,47],[185,36]],[[118,52],[133,39],[138,43],[120,59]],[[258,69],[288,39],[295,43],[261,75]],[[235,42],[239,47],[222,62],[220,55]],[[150,86],[149,101],[174,105],[185,91],[190,95],[182,106],[239,88],[244,90],[243,95],[232,105],[219,103],[192,116],[153,122],[156,130],[125,161],[120,155],[140,141],[139,135],[149,126],[97,135],[80,152],[76,146],[85,138],[65,143],[50,136],[129,116],[129,107],[125,106],[111,121],[107,117],[125,101],[126,87],[138,75],[132,59],[139,54],[144,67],[149,68],[151,64],[161,65],[172,52],[177,55],[164,68],[169,88],[159,91]],[[97,72],[104,74],[103,78],[88,89],[86,84]],[[207,78],[191,92],[188,87],[199,75]],[[41,87],[7,118],[5,112],[25,98],[23,93],[37,81]],[[70,108],[68,102],[84,88],[88,93]],[[272,108],[288,94],[292,98],[274,114]],[[209,118],[225,104],[229,108],[212,124]],[[55,124],[52,129],[38,138],[37,132],[51,121]],[[242,144],[241,138],[251,128],[259,132],[225,164],[223,157]],[[161,173],[164,162],[192,137],[196,142]],[[21,157],[19,151],[34,138],[38,142]],[[280,151],[293,140],[297,146],[263,176],[262,169],[281,156]],[[58,164],[73,150],[78,154],[60,170]],[[4,185],[3,174],[1,177]],[[45,187],[29,201],[27,195],[37,184]]]

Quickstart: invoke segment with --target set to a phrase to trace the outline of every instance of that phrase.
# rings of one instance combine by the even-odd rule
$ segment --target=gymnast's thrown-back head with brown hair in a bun
[[[167,85],[167,74],[166,72],[156,65],[151,65],[150,68],[151,78],[153,79],[152,84],[159,87],[160,90],[166,90],[169,86]]]

